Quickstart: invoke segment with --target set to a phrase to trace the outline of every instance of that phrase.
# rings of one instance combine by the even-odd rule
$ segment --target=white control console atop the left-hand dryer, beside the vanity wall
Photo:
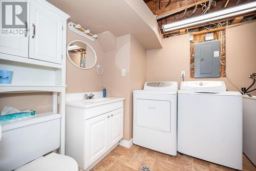
[[[174,81],[145,82],[143,90],[178,91],[178,82],[174,82]]]

